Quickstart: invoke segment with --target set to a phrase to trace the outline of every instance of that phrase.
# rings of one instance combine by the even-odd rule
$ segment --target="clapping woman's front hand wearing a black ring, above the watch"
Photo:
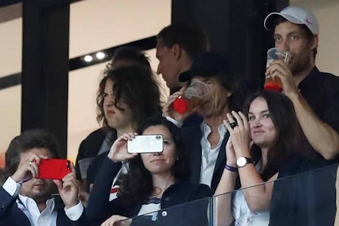
[[[229,113],[227,114],[229,123],[231,124],[236,122],[237,125],[232,128],[229,123],[226,123],[225,126],[229,130],[230,140],[234,148],[236,157],[250,157],[251,132],[247,117],[243,115],[240,111],[238,113],[232,111],[232,115]]]

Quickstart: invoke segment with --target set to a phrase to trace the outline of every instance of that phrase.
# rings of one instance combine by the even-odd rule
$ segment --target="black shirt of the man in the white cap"
[[[314,67],[298,88],[317,117],[339,133],[339,77]],[[304,146],[306,152],[316,153],[309,142]]]

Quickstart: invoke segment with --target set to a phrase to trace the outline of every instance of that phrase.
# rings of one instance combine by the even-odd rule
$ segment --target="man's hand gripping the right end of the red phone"
[[[76,171],[74,170],[73,164],[71,173],[67,174],[62,179],[62,181],[53,180],[53,182],[58,187],[60,197],[65,203],[67,209],[79,203],[78,201],[79,186],[77,183]]]

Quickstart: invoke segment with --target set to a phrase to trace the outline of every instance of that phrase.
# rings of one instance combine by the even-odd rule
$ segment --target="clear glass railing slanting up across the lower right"
[[[339,225],[336,220],[337,171],[338,165],[325,166],[174,205],[127,219],[121,225]],[[272,192],[262,193],[270,187],[273,187]],[[163,198],[163,202],[167,201],[171,202]]]

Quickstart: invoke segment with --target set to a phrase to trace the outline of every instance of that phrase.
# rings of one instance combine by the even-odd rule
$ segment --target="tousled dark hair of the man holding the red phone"
[[[8,175],[13,175],[17,170],[21,154],[32,148],[46,148],[53,158],[60,158],[58,142],[51,133],[43,129],[27,130],[9,143],[5,154],[5,170]]]

